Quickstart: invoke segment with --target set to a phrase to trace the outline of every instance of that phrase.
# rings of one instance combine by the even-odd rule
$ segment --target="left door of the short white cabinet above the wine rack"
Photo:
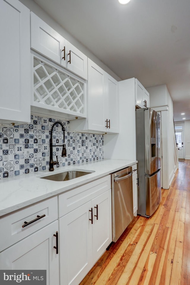
[[[65,39],[42,19],[31,12],[31,49],[45,55],[56,63],[66,66]]]

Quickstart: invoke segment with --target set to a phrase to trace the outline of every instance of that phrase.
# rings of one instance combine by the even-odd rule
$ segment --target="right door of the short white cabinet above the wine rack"
[[[87,56],[74,47],[69,41],[65,41],[66,67],[78,76],[87,79]]]

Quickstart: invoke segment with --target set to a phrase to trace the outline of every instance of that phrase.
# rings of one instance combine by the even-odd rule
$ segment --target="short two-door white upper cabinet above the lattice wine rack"
[[[87,56],[31,12],[31,49],[87,79]]]

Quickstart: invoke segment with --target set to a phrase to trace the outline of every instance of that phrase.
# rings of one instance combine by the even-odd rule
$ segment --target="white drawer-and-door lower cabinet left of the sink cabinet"
[[[57,197],[2,217],[0,269],[47,270],[47,285],[58,285],[57,218]]]

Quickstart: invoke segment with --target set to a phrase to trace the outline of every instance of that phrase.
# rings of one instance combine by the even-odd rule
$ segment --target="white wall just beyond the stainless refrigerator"
[[[174,161],[173,102],[165,84],[146,89],[150,94],[150,107],[157,107],[156,111],[161,111],[163,188],[168,189],[177,169]],[[168,107],[162,111],[158,106]]]

